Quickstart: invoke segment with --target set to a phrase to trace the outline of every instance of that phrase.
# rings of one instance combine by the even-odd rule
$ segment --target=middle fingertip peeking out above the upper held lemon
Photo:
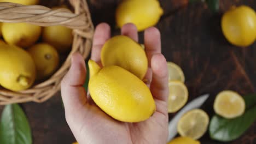
[[[126,35],[127,37],[130,37],[131,39],[138,42],[138,31],[136,26],[132,23],[126,23],[121,28],[121,34]]]

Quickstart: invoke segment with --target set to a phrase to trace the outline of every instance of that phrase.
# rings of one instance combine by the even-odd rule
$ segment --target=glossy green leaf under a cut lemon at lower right
[[[256,120],[256,95],[251,94],[245,97],[246,112],[237,118],[226,119],[214,115],[210,122],[210,136],[213,140],[228,142],[237,139]]]

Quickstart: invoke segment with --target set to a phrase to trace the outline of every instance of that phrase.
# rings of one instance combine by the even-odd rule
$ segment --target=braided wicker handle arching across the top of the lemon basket
[[[80,6],[80,4],[75,5]],[[65,8],[50,9],[42,5],[0,3],[0,22],[27,22],[38,26],[62,25],[74,29],[75,32],[85,38],[91,39],[93,25],[90,23],[88,8],[84,8],[82,11],[75,10],[75,13]]]

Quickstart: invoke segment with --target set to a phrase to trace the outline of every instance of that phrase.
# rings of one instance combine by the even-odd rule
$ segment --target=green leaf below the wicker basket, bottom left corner
[[[0,143],[31,144],[32,135],[27,117],[18,104],[4,107],[0,123]]]

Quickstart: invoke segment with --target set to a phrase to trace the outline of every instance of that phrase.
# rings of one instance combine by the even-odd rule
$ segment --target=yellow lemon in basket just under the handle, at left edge
[[[8,44],[29,47],[40,37],[41,27],[29,23],[3,23],[2,34]]]

